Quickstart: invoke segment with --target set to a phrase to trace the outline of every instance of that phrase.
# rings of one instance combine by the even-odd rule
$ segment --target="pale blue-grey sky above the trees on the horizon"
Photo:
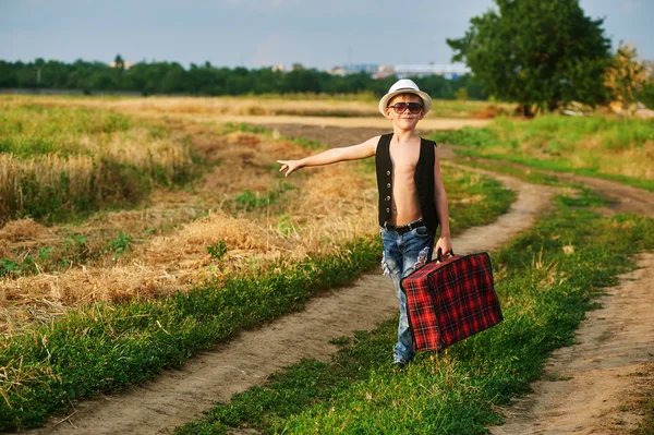
[[[547,1],[547,0],[542,0]],[[654,0],[581,0],[607,37],[654,60]],[[449,63],[492,0],[0,0],[0,60]]]

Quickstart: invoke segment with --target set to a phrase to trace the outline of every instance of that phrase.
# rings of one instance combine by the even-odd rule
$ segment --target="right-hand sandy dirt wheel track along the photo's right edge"
[[[611,200],[607,214],[654,217],[654,194],[611,181],[561,176]],[[632,404],[654,390],[654,254],[596,300],[576,335],[578,345],[554,352],[533,392],[505,409],[493,435],[628,434],[641,418]]]

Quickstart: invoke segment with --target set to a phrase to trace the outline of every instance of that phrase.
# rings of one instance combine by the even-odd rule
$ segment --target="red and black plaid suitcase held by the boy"
[[[416,351],[445,349],[504,318],[485,252],[429,262],[401,287]]]

